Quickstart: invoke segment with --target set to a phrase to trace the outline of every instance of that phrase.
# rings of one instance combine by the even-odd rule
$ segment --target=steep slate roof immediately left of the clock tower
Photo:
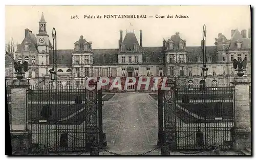
[[[22,52],[22,51],[25,50],[25,43],[26,42],[30,42],[30,45],[29,45],[30,51],[36,51],[37,52],[36,36],[31,32],[27,33],[27,35],[23,39],[22,43],[19,45],[19,47],[17,49],[18,52]]]

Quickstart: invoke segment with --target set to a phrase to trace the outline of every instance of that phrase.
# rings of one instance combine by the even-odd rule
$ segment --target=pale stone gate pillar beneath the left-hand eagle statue
[[[31,134],[27,128],[27,89],[26,80],[13,81],[11,87],[11,145],[16,155],[27,155],[31,146]]]

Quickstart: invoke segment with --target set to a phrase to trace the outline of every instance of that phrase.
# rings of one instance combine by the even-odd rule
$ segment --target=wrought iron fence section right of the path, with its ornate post
[[[163,96],[165,142],[176,150],[229,149],[234,88],[178,87]]]

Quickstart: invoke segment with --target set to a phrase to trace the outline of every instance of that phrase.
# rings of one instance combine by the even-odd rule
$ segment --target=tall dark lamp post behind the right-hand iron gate
[[[203,80],[203,88],[204,88],[204,115],[205,115],[205,121],[204,121],[204,131],[205,131],[205,135],[204,135],[204,141],[205,141],[205,146],[207,146],[207,139],[206,139],[206,117],[207,117],[207,115],[206,115],[206,98],[205,98],[205,85],[206,85],[206,83],[205,83],[205,79],[206,79],[206,77],[207,77],[207,71],[208,71],[208,68],[206,67],[206,57],[205,57],[205,49],[206,49],[206,47],[205,47],[205,40],[206,39],[206,26],[204,25],[203,26],[203,41],[202,41],[202,50],[203,50],[203,67],[202,67],[202,70],[203,70],[203,78],[204,78],[204,80]]]

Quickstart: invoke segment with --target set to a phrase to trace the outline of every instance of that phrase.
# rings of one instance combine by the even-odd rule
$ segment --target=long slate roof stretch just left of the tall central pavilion
[[[119,49],[93,49],[93,62],[98,64],[118,63]]]

